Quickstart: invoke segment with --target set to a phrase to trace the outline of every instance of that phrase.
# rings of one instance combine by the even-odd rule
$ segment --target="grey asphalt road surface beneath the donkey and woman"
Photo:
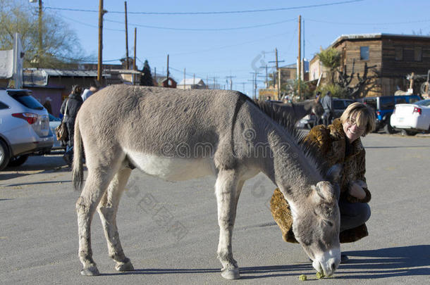
[[[430,137],[370,134],[364,145],[373,194],[370,236],[344,244],[350,262],[340,265],[334,279],[320,282],[429,284]],[[79,194],[61,165],[61,156],[32,157],[19,170],[0,172],[0,284],[297,284],[300,274],[314,279],[300,246],[281,239],[268,208],[274,185],[263,175],[242,191],[233,235],[242,279],[227,281],[216,259],[214,179],[163,182],[136,170],[118,213],[135,272],[115,272],[95,217],[92,247],[102,276],[82,277],[74,210]]]

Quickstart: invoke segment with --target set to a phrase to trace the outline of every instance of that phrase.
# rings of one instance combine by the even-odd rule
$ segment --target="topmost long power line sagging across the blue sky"
[[[140,14],[140,15],[218,15],[218,14],[238,14],[238,13],[259,13],[259,12],[273,12],[273,11],[286,11],[286,10],[297,10],[304,8],[316,8],[322,6],[333,6],[333,5],[342,5],[342,4],[350,4],[355,2],[362,2],[364,0],[350,0],[350,1],[340,1],[340,2],[332,2],[326,4],[314,4],[307,6],[293,6],[293,7],[284,7],[284,8],[266,8],[266,9],[256,9],[256,10],[242,10],[242,11],[207,11],[207,12],[128,12],[129,14]],[[90,13],[98,13],[96,10],[85,10],[85,9],[73,9],[73,8],[56,8],[56,7],[44,7],[46,9],[51,10],[60,10],[60,11],[78,11],[78,12],[90,12]],[[109,13],[122,14],[124,11],[109,11]]]

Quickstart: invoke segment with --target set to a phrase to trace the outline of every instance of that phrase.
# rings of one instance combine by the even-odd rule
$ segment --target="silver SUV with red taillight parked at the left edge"
[[[30,90],[0,89],[0,170],[25,163],[30,154],[51,151],[47,110]]]

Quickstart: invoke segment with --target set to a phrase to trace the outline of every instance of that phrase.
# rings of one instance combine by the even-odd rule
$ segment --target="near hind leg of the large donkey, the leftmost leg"
[[[119,167],[118,167],[119,168]],[[97,205],[106,191],[115,172],[118,170],[101,170],[99,168],[89,171],[84,189],[76,201],[79,233],[79,258],[83,265],[82,275],[99,275],[97,265],[92,259],[91,249],[91,222]]]

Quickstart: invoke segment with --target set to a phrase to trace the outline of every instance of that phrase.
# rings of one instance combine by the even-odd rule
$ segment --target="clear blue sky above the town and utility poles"
[[[321,6],[326,4],[326,6]],[[35,5],[35,4],[29,4]],[[49,9],[70,24],[86,54],[97,56],[99,1],[44,0],[44,7],[83,9],[63,11]],[[212,83],[217,77],[221,87],[226,76],[233,76],[233,89],[252,95],[252,75],[274,63],[274,49],[283,60],[281,65],[295,63],[298,51],[298,15],[302,16],[302,56],[311,59],[341,34],[390,33],[430,34],[429,0],[312,0],[312,1],[142,1],[128,0],[128,48],[133,56],[134,28],[137,27],[138,68],[147,59],[152,70],[166,73],[170,57],[171,75],[179,82],[183,69]],[[296,8],[301,6],[302,8]],[[305,7],[309,6],[309,7]],[[104,0],[104,61],[125,56],[124,1]],[[244,12],[277,9],[276,11]],[[142,14],[132,12],[184,13],[226,12],[216,14]],[[182,30],[184,29],[184,30]],[[304,50],[304,52],[303,52]],[[108,63],[108,62],[105,62]],[[264,82],[259,82],[264,87]]]

